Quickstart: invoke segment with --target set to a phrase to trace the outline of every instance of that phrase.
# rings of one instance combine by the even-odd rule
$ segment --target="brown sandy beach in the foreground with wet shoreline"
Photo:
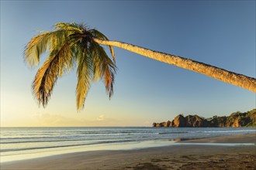
[[[168,147],[54,155],[5,162],[1,169],[255,169],[256,145],[227,146],[255,144],[255,135],[178,141],[178,145]]]

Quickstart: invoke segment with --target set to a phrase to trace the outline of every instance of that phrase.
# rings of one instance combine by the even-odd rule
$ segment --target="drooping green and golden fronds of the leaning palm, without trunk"
[[[37,71],[33,80],[33,93],[39,104],[47,105],[54,84],[59,77],[77,66],[77,108],[84,107],[85,97],[93,81],[103,80],[109,98],[113,93],[116,73],[115,54],[109,46],[112,59],[92,39],[108,40],[96,29],[77,23],[57,23],[51,32],[33,37],[26,45],[24,58],[29,66],[36,66],[40,56],[49,51],[47,60]]]

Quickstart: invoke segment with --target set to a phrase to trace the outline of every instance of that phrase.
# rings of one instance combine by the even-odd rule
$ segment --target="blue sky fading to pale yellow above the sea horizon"
[[[255,1],[2,1],[1,126],[151,126],[178,114],[202,117],[254,109],[255,93],[114,47],[118,67],[109,100],[92,84],[77,111],[77,76],[57,80],[46,108],[33,98],[39,66],[26,43],[57,22],[85,23],[109,39],[144,46],[255,77]]]

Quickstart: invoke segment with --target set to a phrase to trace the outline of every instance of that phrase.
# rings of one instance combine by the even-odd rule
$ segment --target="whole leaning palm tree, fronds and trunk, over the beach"
[[[99,44],[109,46],[112,59]],[[109,41],[102,32],[71,22],[57,23],[53,31],[43,32],[33,37],[26,45],[24,58],[29,66],[36,66],[40,61],[40,56],[47,51],[50,52],[47,61],[37,71],[33,81],[33,93],[39,104],[43,104],[43,107],[47,105],[57,78],[76,65],[78,67],[76,88],[78,110],[84,107],[85,97],[92,81],[103,80],[106,92],[111,97],[114,73],[116,73],[115,54],[112,46],[256,92],[256,80],[253,77],[233,73],[181,56],[161,53],[125,42]]]

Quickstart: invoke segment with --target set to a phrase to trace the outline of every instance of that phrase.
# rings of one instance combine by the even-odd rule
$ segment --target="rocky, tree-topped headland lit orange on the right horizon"
[[[245,113],[237,111],[230,114],[228,117],[213,116],[208,119],[199,117],[196,114],[186,117],[184,117],[183,114],[179,114],[173,121],[153,123],[153,127],[256,127],[256,109]]]

